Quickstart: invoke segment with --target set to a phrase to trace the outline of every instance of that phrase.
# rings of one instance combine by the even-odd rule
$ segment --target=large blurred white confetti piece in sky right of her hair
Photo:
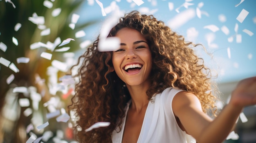
[[[186,9],[185,11],[182,11],[181,13],[175,15],[175,17],[168,21],[168,26],[172,29],[177,29],[180,26],[184,25],[186,22],[194,18],[196,15],[196,12],[194,9]]]

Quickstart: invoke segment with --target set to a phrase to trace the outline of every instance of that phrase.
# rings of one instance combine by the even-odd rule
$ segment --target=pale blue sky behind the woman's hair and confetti
[[[213,53],[213,58],[209,58],[204,51],[196,50],[200,57],[205,59],[205,63],[216,70],[218,73],[218,82],[230,82],[237,81],[246,77],[256,76],[256,1],[245,0],[240,5],[241,0],[187,0],[187,2],[193,4],[186,9],[180,7],[185,0],[143,0],[144,3],[137,6],[132,0],[99,0],[102,2],[103,7],[106,9],[110,4],[115,4],[121,11],[128,13],[132,10],[143,11],[143,13],[151,13],[158,20],[162,20],[166,25],[170,26],[173,31],[183,35],[186,40],[191,40],[195,43],[201,43],[205,46],[207,51]],[[173,8],[169,8],[169,4]],[[201,4],[201,6],[199,6]],[[179,8],[180,13],[177,13],[175,9]],[[196,15],[196,8],[200,7],[202,12],[201,18]],[[247,17],[241,23],[236,18],[239,13],[245,9],[249,12]],[[102,23],[105,18],[108,18],[110,13],[106,16],[102,16],[101,7],[96,1],[93,4],[85,1],[81,8],[76,11],[80,15],[79,22],[89,22],[90,20],[99,20],[97,24],[89,26],[83,29],[86,33],[84,37],[87,40],[95,40],[99,34]],[[180,16],[180,14],[184,14]],[[193,14],[191,14],[193,13]],[[205,13],[205,14],[204,14]],[[184,24],[178,24],[175,26],[175,22],[180,22],[181,17],[191,16]],[[220,21],[220,16],[226,20]],[[174,19],[177,17],[178,19]],[[185,18],[186,19],[186,18]],[[169,22],[172,21],[172,24]],[[215,25],[219,28],[218,31],[213,32],[210,29],[204,28],[204,26]],[[229,33],[226,35],[222,32],[222,26],[229,29]],[[235,27],[238,28],[235,32]],[[254,33],[250,36],[243,32],[247,29]],[[188,31],[192,31],[191,34],[187,34]],[[193,35],[198,33],[197,35]],[[242,42],[236,42],[236,35],[242,37]],[[192,39],[191,39],[192,36]],[[233,36],[233,41],[228,41],[229,37]],[[211,39],[211,45],[209,45],[208,39]],[[228,48],[229,51],[228,52]]]

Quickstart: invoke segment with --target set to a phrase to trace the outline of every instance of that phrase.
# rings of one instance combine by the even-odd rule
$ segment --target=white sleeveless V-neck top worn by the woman
[[[173,97],[182,90],[166,88],[162,93],[152,97],[149,101],[137,143],[196,143],[195,139],[182,131],[176,122],[172,109]],[[125,108],[126,116],[131,100]],[[112,134],[112,143],[121,143],[126,116],[121,125]]]

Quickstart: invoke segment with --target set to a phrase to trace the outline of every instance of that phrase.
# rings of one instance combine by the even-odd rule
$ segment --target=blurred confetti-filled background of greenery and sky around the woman
[[[75,81],[66,74],[106,18],[132,10],[203,44],[209,55],[196,51],[218,75],[227,103],[239,80],[256,76],[255,6],[254,0],[0,0],[0,142],[73,143],[67,105]],[[255,106],[245,108],[234,131],[225,143],[256,142]]]

